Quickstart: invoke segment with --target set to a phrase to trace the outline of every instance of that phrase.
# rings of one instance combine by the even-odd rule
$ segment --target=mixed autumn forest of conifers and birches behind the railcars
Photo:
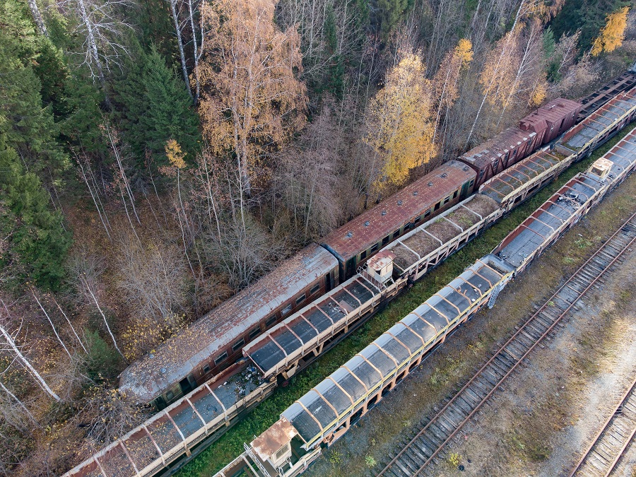
[[[636,60],[625,0],[0,0],[0,473],[151,410],[127,364]]]

